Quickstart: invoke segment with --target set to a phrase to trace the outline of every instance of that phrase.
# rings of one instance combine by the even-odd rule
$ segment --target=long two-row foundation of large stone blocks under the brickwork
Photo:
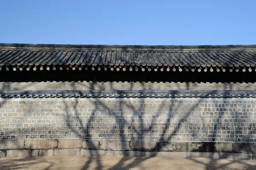
[[[254,143],[84,141],[82,139],[1,140],[0,157],[169,156],[256,159]]]

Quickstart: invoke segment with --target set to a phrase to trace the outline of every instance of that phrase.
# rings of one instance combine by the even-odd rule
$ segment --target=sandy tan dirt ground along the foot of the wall
[[[49,156],[0,158],[1,170],[256,170],[256,161],[212,158]]]

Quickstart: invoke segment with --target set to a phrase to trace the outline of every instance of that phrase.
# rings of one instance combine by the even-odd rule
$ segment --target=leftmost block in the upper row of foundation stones
[[[0,140],[0,150],[23,149],[24,139]]]

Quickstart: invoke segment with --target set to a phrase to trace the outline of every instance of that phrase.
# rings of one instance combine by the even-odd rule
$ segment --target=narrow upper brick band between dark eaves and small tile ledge
[[[0,90],[256,90],[254,83],[192,82],[0,82]]]

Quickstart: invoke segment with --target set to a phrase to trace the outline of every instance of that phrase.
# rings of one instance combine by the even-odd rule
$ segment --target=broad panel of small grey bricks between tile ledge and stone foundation
[[[255,107],[253,98],[1,99],[0,139],[256,142]]]

